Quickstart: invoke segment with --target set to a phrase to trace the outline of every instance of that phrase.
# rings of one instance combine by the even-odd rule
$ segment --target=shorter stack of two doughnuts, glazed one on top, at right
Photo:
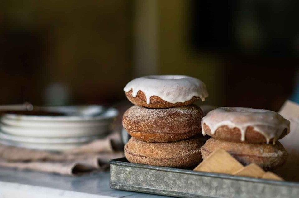
[[[290,132],[290,122],[274,111],[221,107],[210,111],[201,124],[202,134],[212,137],[201,148],[203,159],[220,148],[243,165],[256,163],[264,170],[275,169],[287,159],[277,140]]]

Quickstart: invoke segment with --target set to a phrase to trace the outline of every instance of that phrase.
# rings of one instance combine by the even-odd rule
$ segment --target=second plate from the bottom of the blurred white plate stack
[[[39,143],[39,144],[68,144],[68,143],[87,143],[94,139],[103,138],[107,134],[101,136],[86,136],[86,137],[73,137],[73,138],[35,138],[27,136],[17,136],[0,131],[0,139],[10,140],[14,142],[27,142],[27,143]]]

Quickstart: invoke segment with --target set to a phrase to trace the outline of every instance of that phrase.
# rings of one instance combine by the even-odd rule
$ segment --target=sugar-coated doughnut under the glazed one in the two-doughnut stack
[[[286,149],[278,141],[275,144],[243,143],[210,138],[201,148],[202,158],[205,159],[219,148],[230,153],[244,166],[250,163],[256,163],[264,170],[275,169],[282,166],[288,156]]]

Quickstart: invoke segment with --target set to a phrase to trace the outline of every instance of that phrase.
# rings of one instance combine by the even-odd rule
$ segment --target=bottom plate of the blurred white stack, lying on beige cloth
[[[24,143],[24,142],[14,142],[9,140],[0,139],[1,144],[6,144],[10,146],[17,146],[27,149],[37,149],[37,150],[48,150],[48,151],[64,151],[68,149],[74,149],[84,143],[71,143],[71,144],[35,144],[35,143]]]

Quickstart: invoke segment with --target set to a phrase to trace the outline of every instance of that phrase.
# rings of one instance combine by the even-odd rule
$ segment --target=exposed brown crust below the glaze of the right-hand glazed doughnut
[[[222,125],[218,127],[214,134],[211,133],[210,127],[203,124],[203,130],[205,133],[213,138],[223,139],[230,142],[242,142],[241,141],[241,131],[239,128],[229,128],[227,125]],[[278,139],[282,139],[284,136],[287,135],[287,130],[285,129],[282,132],[282,135]],[[271,139],[270,141],[273,141]],[[260,134],[259,132],[255,131],[253,127],[247,127],[245,131],[245,141],[248,143],[263,143],[267,142],[265,136]]]

